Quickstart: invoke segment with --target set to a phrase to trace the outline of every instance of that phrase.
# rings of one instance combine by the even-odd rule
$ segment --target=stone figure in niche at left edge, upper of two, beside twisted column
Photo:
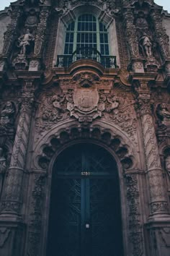
[[[7,101],[0,114],[0,129],[7,129],[14,132],[15,106],[11,101]]]

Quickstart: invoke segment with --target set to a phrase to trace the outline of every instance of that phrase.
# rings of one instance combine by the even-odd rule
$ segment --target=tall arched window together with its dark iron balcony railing
[[[80,59],[93,59],[105,68],[116,68],[116,56],[109,54],[109,32],[92,14],[81,14],[66,29],[63,56],[58,67],[68,67]]]

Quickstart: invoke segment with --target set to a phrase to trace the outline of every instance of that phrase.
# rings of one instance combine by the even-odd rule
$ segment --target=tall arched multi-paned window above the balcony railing
[[[99,51],[103,56],[109,56],[107,29],[91,14],[82,14],[68,25],[64,54],[71,55],[75,51],[81,56],[95,55],[95,51]]]

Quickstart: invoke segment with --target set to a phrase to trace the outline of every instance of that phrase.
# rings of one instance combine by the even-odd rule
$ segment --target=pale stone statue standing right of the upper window
[[[148,58],[153,57],[153,53],[152,53],[153,43],[152,43],[151,37],[148,36],[146,33],[143,33],[143,35],[140,37],[140,46],[143,49],[143,55],[146,54]]]

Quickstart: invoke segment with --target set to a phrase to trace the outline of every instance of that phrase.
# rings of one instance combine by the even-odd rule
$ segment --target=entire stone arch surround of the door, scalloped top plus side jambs
[[[45,211],[42,217],[42,244],[40,255],[45,256],[45,244],[48,236],[48,210],[50,205],[50,189],[52,182],[53,164],[57,156],[66,148],[76,143],[87,142],[99,145],[107,150],[115,161],[117,162],[117,171],[120,179],[120,198],[122,208],[122,233],[123,243],[126,248],[128,245],[128,234],[126,232],[131,220],[128,220],[128,205],[131,204],[131,198],[133,200],[133,190],[129,191],[131,183],[127,182],[130,176],[130,182],[134,182],[137,195],[135,200],[138,200],[138,181],[136,178],[136,172],[138,166],[138,153],[135,153],[133,148],[133,142],[130,140],[125,132],[115,126],[115,124],[106,121],[94,121],[89,126],[81,125],[78,121],[68,120],[58,126],[52,127],[50,131],[46,132],[33,149],[32,155],[32,172],[35,176],[35,181],[39,182],[39,179],[43,179],[42,184],[44,197],[42,197],[42,203],[45,205],[43,208]],[[48,177],[48,179],[46,179]],[[132,179],[132,180],[131,180]],[[134,179],[134,181],[133,181]],[[31,178],[32,181],[32,178]],[[32,184],[33,189],[36,189],[36,184]],[[131,189],[131,187],[130,187]],[[128,197],[126,194],[128,193]],[[38,200],[38,198],[37,198]],[[32,202],[35,204],[36,199],[33,197]],[[130,202],[129,202],[130,201]],[[134,201],[134,200],[133,200]],[[134,201],[133,204],[136,202]],[[36,215],[36,213],[35,213]],[[133,230],[130,230],[133,232]],[[136,234],[134,234],[135,236]],[[133,245],[130,245],[133,247]],[[30,244],[30,247],[32,245]],[[135,245],[134,245],[135,247]],[[128,250],[128,249],[127,249]]]

